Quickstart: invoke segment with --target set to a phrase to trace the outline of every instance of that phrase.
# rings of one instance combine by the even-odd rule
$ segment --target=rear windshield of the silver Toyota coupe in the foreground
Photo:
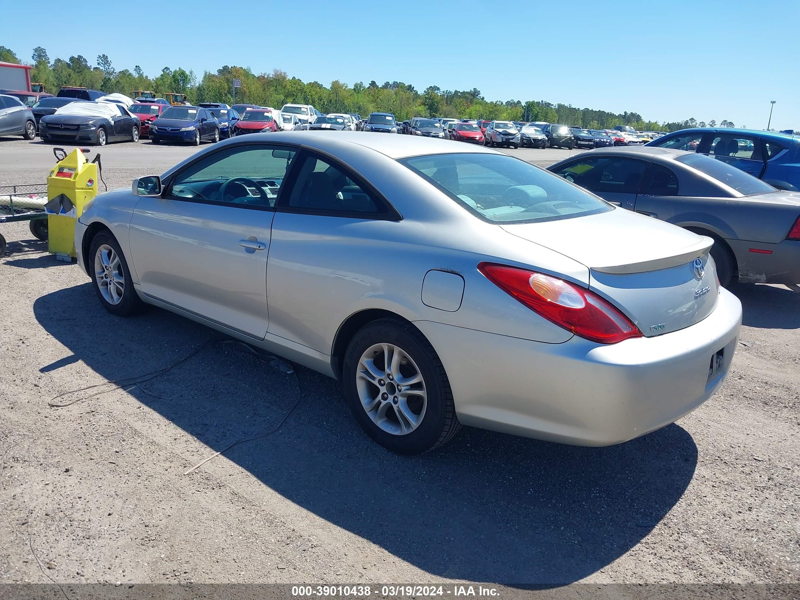
[[[506,155],[434,154],[398,162],[490,222],[552,221],[613,210],[558,176]]]

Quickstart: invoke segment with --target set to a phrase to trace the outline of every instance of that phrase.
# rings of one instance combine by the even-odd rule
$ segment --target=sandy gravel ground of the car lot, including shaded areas
[[[39,142],[0,144],[0,185],[53,163]],[[128,186],[192,151],[107,146],[104,177]],[[362,434],[337,382],[234,344],[49,407],[221,337],[163,310],[114,318],[26,223],[0,233],[2,583],[800,583],[800,294],[737,288],[726,384],[644,438],[577,448],[465,428],[402,458]],[[276,434],[184,474],[269,430],[298,394]]]

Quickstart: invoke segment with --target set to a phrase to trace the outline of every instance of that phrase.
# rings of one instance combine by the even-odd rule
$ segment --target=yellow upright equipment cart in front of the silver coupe
[[[59,151],[61,154],[59,154]],[[75,220],[83,207],[97,193],[98,158],[88,162],[84,152],[76,148],[66,154],[54,148],[58,162],[47,176],[48,250],[58,260],[71,262],[75,257]]]

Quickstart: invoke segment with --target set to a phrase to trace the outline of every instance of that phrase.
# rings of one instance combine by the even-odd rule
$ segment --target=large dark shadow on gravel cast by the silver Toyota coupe
[[[80,307],[82,316],[61,318],[65,307]],[[75,358],[107,379],[158,370],[222,338],[162,310],[115,318],[89,283],[38,298],[34,314]],[[214,450],[269,430],[297,397],[294,375],[238,348],[210,346],[146,382],[147,393],[130,390],[128,401],[149,406]],[[585,578],[665,517],[698,459],[690,434],[677,425],[608,448],[465,428],[442,450],[406,458],[362,434],[338,382],[302,367],[297,382],[301,400],[282,429],[236,446],[226,458],[302,509],[425,570],[433,581],[530,588]],[[187,457],[182,470],[208,454]],[[200,469],[224,468],[224,459],[214,460]]]

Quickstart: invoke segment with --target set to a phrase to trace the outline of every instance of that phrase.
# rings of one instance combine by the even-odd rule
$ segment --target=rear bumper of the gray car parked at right
[[[739,281],[750,283],[800,283],[800,242],[778,244],[726,240],[734,250]],[[756,252],[754,250],[761,250]]]

